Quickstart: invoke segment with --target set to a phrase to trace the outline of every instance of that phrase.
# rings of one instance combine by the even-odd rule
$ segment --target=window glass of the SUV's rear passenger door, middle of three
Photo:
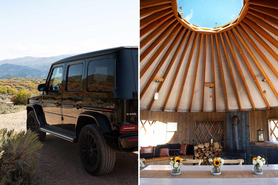
[[[70,65],[67,71],[66,90],[80,91],[82,81],[83,64]]]

